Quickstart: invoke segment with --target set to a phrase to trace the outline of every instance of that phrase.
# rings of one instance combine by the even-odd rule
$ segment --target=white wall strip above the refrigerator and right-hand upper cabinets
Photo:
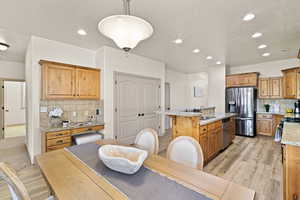
[[[259,72],[261,77],[282,76],[281,70],[300,66],[299,59],[277,60],[254,65],[242,65],[228,68],[228,74]]]

